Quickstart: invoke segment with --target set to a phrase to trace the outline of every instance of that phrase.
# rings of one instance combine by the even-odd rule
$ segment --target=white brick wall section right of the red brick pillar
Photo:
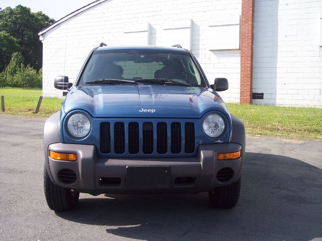
[[[257,104],[322,107],[321,0],[255,0]]]

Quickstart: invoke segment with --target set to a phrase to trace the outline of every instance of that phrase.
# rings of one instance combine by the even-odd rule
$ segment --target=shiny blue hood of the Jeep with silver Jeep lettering
[[[73,87],[63,110],[84,109],[93,117],[200,118],[209,110],[228,112],[212,89],[164,85]]]

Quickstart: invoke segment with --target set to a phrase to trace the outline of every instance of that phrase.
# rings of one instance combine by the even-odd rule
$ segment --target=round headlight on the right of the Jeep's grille
[[[208,137],[219,137],[225,130],[225,122],[219,114],[209,114],[204,119],[202,127]]]

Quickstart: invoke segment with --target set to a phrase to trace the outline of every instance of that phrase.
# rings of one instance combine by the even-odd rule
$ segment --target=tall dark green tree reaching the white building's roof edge
[[[22,5],[0,11],[0,31],[17,39],[25,65],[29,64],[37,70],[42,67],[42,43],[38,32],[53,22],[53,19],[42,12],[32,13],[30,8]]]

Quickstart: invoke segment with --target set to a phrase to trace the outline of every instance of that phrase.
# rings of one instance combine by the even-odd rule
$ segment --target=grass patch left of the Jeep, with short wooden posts
[[[5,96],[5,112],[0,114],[14,114],[27,117],[48,117],[60,109],[61,99],[43,98],[39,112],[35,109],[41,89],[0,88],[0,95]]]

